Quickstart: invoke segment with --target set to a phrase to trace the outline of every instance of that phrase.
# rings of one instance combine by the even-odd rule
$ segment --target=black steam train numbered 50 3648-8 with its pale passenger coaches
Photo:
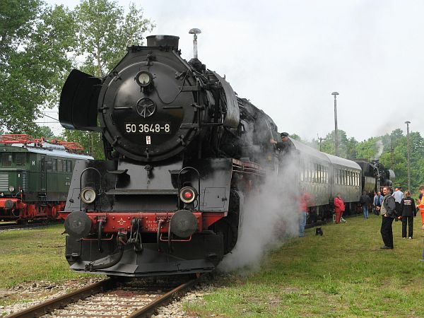
[[[199,59],[182,59],[178,41],[149,36],[105,78],[73,70],[66,79],[62,126],[100,132],[107,158],[73,170],[62,215],[75,271],[212,271],[236,245],[245,198],[285,160],[270,142],[279,138],[273,120]],[[310,158],[297,182],[320,193],[317,216],[331,206],[335,166],[346,168],[346,178],[338,175],[346,187],[355,172],[360,194],[358,164],[293,140],[290,148]]]

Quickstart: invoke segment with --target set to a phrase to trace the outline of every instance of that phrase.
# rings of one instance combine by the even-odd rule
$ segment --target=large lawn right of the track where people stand
[[[381,217],[324,225],[324,236],[306,230],[270,252],[256,272],[221,278],[203,298],[184,303],[208,317],[422,317],[423,240],[401,238],[393,223],[394,249],[382,250]]]

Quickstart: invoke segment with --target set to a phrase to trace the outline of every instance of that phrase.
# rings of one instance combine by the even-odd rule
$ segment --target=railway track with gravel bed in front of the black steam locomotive
[[[120,282],[113,278],[93,283],[68,295],[29,307],[6,318],[17,317],[150,317],[197,279],[183,283]]]

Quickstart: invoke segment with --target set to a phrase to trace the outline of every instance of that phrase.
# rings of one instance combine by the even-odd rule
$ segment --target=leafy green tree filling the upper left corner
[[[73,45],[72,18],[62,6],[7,0],[0,6],[0,126],[32,134],[42,107],[52,107]]]

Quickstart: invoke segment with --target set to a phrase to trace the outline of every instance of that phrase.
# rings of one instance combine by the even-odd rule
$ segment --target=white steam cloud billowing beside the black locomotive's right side
[[[295,186],[298,176],[295,160],[288,157],[278,176],[269,175],[259,192],[251,192],[245,198],[237,245],[224,257],[220,270],[232,271],[243,266],[257,269],[269,249],[299,235],[300,193]]]

